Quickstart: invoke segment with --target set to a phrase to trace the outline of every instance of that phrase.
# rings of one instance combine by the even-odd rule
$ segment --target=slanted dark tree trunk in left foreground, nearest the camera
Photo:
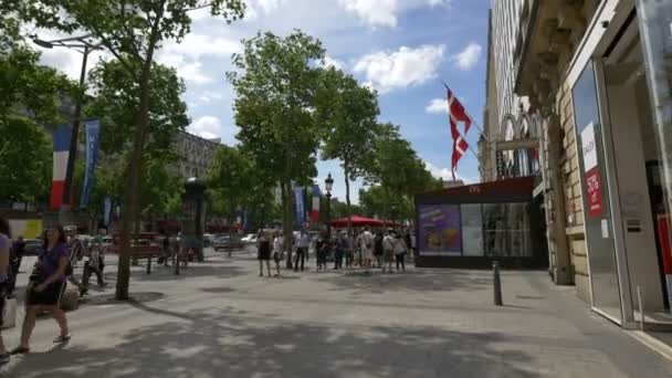
[[[161,8],[162,9],[162,8]],[[157,44],[159,22],[162,14],[158,14],[149,36],[149,48],[140,73],[140,104],[137,114],[137,126],[134,132],[133,154],[129,165],[129,185],[124,195],[125,204],[122,212],[122,230],[119,234],[119,262],[117,266],[117,286],[115,298],[117,301],[128,300],[128,283],[130,281],[130,231],[134,224],[139,222],[139,191],[143,172],[143,147],[145,145],[145,130],[149,123],[149,78],[151,76],[151,63],[154,50]],[[138,223],[139,224],[139,223]]]

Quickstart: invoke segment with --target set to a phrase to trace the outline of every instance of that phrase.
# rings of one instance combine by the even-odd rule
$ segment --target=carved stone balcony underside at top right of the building
[[[599,0],[526,0],[521,10],[514,53],[515,93],[547,109],[560,75],[599,4]]]

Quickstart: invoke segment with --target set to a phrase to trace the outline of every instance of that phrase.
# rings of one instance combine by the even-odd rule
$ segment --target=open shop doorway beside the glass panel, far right
[[[613,209],[615,244],[624,261],[620,280],[624,318],[638,311],[638,287],[644,309],[665,308],[661,253],[655,222],[664,212],[660,180],[660,151],[655,140],[652,104],[647,86],[642,46],[637,18],[616,36],[600,62],[601,101],[605,119],[605,148],[610,176],[610,204]],[[624,273],[624,274],[623,274]],[[630,312],[630,314],[628,314]]]

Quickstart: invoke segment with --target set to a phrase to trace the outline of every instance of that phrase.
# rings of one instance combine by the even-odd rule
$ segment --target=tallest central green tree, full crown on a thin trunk
[[[304,185],[317,174],[314,109],[321,70],[314,63],[324,54],[319,40],[298,30],[285,38],[259,33],[243,41],[243,53],[233,55],[239,71],[228,73],[237,93],[238,139],[258,176],[280,181],[285,234],[292,232],[292,181]]]

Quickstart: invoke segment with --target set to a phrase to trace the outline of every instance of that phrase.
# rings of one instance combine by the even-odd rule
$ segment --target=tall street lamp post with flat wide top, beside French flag
[[[90,42],[91,34],[64,38],[60,40],[44,41],[39,38],[33,38],[33,43],[44,49],[66,48],[73,49],[82,54],[82,71],[80,72],[80,93],[75,102],[75,109],[72,122],[72,136],[70,138],[70,151],[67,155],[67,166],[65,168],[65,181],[63,183],[63,201],[59,218],[61,223],[69,224],[72,222],[72,177],[74,175],[75,159],[77,155],[77,137],[80,135],[80,125],[82,123],[82,105],[84,103],[84,82],[86,81],[86,62],[88,54],[99,49],[99,43]]]

